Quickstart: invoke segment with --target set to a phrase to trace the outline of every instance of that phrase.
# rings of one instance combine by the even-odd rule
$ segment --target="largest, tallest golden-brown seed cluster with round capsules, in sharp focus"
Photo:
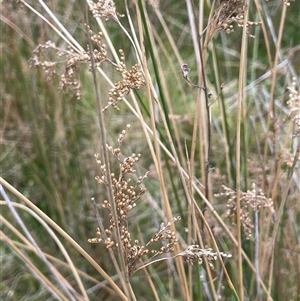
[[[127,125],[126,130],[123,130],[119,135],[119,145],[121,145],[129,128],[130,125]],[[119,174],[116,175],[111,173],[108,175],[106,165],[102,164],[99,160],[99,156],[96,154],[96,161],[100,166],[101,172],[101,176],[97,176],[96,180],[99,184],[108,186],[109,181],[107,180],[107,177],[110,177],[117,220],[115,221],[113,218],[111,204],[107,200],[104,200],[102,208],[106,209],[108,212],[109,226],[105,229],[105,233],[102,233],[100,228],[97,228],[97,237],[90,238],[88,242],[103,243],[107,249],[112,248],[113,250],[121,250],[124,254],[128,275],[131,276],[136,270],[137,263],[144,255],[152,254],[153,258],[154,256],[172,252],[174,250],[174,247],[177,244],[177,238],[175,232],[169,230],[169,227],[172,222],[175,222],[180,218],[173,218],[173,221],[168,222],[167,224],[162,223],[159,231],[155,233],[145,245],[140,244],[138,240],[133,241],[129,231],[128,215],[146,192],[146,189],[142,187],[142,184],[147,178],[148,172],[144,176],[140,176],[136,180],[133,180],[133,175],[136,174],[134,165],[138,162],[141,155],[133,153],[130,156],[121,159],[120,148],[113,148],[112,146],[107,145],[107,149],[119,162]],[[135,184],[131,185],[131,182],[133,181],[135,181]],[[118,227],[116,227],[116,225],[118,225]],[[120,248],[117,243],[117,238],[115,237],[115,231],[117,229],[119,230],[119,236],[122,243]],[[154,245],[157,242],[161,242],[162,246]]]

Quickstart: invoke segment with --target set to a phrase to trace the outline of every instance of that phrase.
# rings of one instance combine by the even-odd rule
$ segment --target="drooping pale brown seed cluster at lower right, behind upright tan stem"
[[[215,197],[227,198],[227,217],[234,220],[236,217],[236,191],[222,185],[224,192],[215,194]],[[241,192],[241,208],[240,208],[240,220],[243,226],[243,230],[247,239],[252,236],[252,229],[254,228],[252,218],[250,216],[250,209],[258,211],[260,208],[269,208],[271,213],[275,215],[273,201],[267,198],[261,189],[257,189],[253,184],[252,190],[247,192]]]

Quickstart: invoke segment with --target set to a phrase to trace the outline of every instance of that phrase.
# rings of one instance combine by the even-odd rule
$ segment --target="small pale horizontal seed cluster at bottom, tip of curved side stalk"
[[[231,254],[219,253],[224,258],[231,258]],[[206,258],[209,267],[213,270],[213,262],[218,260],[218,253],[213,252],[212,249],[201,249],[199,245],[190,245],[186,250],[179,253],[178,256],[183,257],[184,261],[189,265],[193,266],[195,263],[202,264],[203,258]]]

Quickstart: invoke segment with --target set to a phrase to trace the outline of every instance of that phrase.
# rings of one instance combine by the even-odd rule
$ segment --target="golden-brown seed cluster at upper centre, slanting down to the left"
[[[103,109],[113,106],[118,108],[118,103],[123,99],[125,95],[128,95],[132,89],[140,89],[146,85],[139,65],[135,64],[131,70],[126,69],[125,57],[122,50],[120,50],[121,61],[117,67],[117,71],[122,74],[123,80],[114,84],[114,87],[109,90],[108,105]]]

